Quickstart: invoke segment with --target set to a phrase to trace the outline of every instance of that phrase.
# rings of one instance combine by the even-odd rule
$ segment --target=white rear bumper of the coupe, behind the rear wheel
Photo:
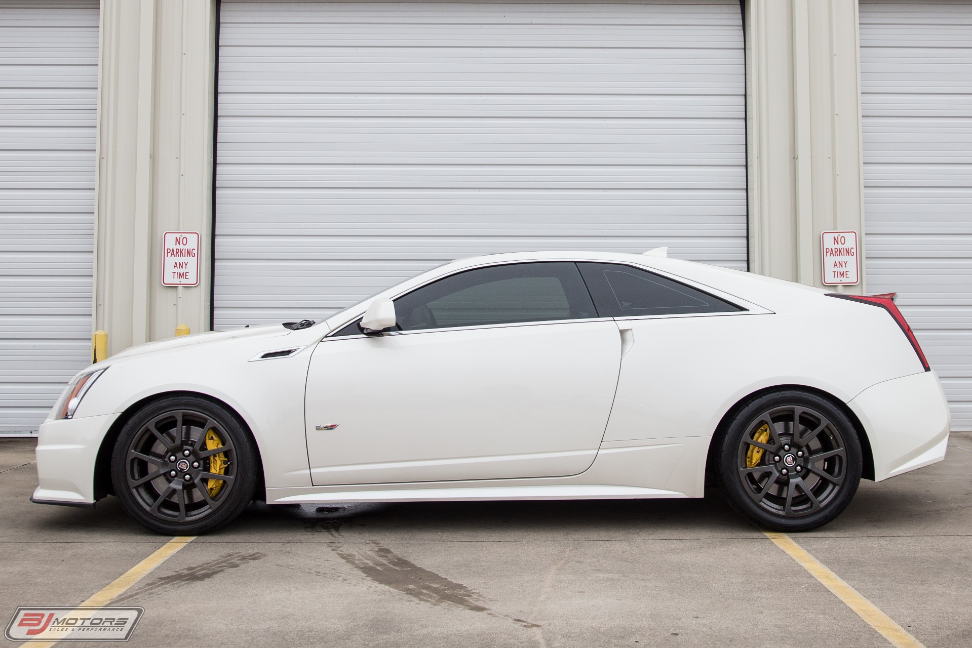
[[[951,416],[934,371],[878,383],[848,404],[867,430],[875,481],[945,459]]]

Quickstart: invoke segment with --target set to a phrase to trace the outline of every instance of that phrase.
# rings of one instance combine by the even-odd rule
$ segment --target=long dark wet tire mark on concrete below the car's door
[[[486,606],[482,596],[462,583],[456,583],[412,563],[388,547],[382,546],[381,543],[371,542],[356,549],[332,545],[331,549],[341,560],[361,571],[368,579],[422,602],[482,612],[492,617],[512,621],[524,628],[540,627],[523,619],[514,619],[494,612]]]

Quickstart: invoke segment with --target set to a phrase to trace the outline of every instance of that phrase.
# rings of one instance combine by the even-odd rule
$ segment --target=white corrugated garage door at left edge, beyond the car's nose
[[[0,0],[0,433],[90,362],[98,3]]]

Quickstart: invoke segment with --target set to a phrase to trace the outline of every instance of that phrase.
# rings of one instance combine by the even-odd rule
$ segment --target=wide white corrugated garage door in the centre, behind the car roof
[[[746,268],[738,0],[224,0],[220,25],[217,328],[485,253]]]

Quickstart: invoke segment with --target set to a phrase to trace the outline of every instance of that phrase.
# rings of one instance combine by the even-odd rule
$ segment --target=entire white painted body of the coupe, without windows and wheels
[[[35,496],[63,501],[65,494],[74,493],[75,500],[90,501],[86,485],[112,416],[153,394],[172,391],[205,393],[239,413],[260,448],[271,501],[292,495],[327,501],[329,494],[467,487],[503,487],[498,497],[538,496],[506,489],[518,486],[593,488],[589,496],[619,493],[601,487],[654,491],[639,492],[643,496],[661,491],[702,496],[710,438],[724,412],[754,390],[781,384],[815,387],[851,401],[879,461],[879,478],[934,460],[936,444],[948,433],[937,376],[921,371],[914,350],[890,316],[874,306],[824,296],[823,290],[672,258],[520,253],[457,261],[375,298],[395,297],[470,267],[531,259],[628,263],[679,277],[750,311],[656,316],[617,324],[578,321],[325,338],[332,330],[329,324],[363,314],[371,301],[365,300],[330,323],[306,329],[270,325],[136,347],[103,363],[109,369],[87,392],[77,418],[41,427],[39,447],[48,455],[38,469],[41,484],[47,486]],[[589,440],[586,430],[608,417],[614,387],[603,388],[596,379],[600,375],[609,383],[617,371],[618,324],[631,328],[634,345],[621,361],[608,433],[601,443],[597,433]],[[563,333],[572,328],[597,335],[578,342],[577,336]],[[523,343],[530,337],[528,329],[541,332],[533,344]],[[453,335],[458,342],[436,345],[434,337],[440,335]],[[491,335],[506,338],[490,346]],[[313,355],[304,351],[292,358],[249,361],[262,352],[315,344]],[[338,350],[342,346],[343,352]],[[422,353],[424,347],[429,353]],[[315,365],[307,381],[311,358],[324,361]],[[362,380],[365,374],[369,381]],[[311,407],[322,408],[306,423],[336,423],[336,429],[306,429],[305,383],[320,399]],[[594,397],[597,389],[607,392],[607,405]],[[313,416],[335,413],[342,420],[315,421],[323,417]],[[385,426],[378,428],[383,436],[356,436],[355,426],[361,421],[379,421]],[[390,426],[399,421],[392,430]],[[450,425],[451,438],[443,434]],[[560,435],[551,434],[555,429]],[[464,432],[470,433],[461,435]],[[343,483],[335,479],[330,486],[312,486],[306,443],[311,434],[335,439],[339,437],[327,435],[347,434],[358,444],[311,448],[316,466],[356,466],[330,471],[343,472]],[[494,450],[494,439],[505,448]],[[510,446],[515,446],[512,451]],[[600,449],[591,463],[595,448]],[[349,451],[357,456],[349,459]],[[534,457],[523,460],[525,454]],[[406,461],[411,463],[403,464]],[[568,465],[572,461],[582,465]],[[544,471],[550,475],[573,470],[578,474],[539,476]],[[351,482],[369,471],[412,482]],[[318,471],[314,481],[322,483],[322,474]],[[509,478],[525,474],[530,476]],[[481,479],[489,476],[497,478]],[[482,495],[470,493],[473,498]],[[554,495],[544,492],[540,498]],[[448,497],[461,498],[456,493]]]

